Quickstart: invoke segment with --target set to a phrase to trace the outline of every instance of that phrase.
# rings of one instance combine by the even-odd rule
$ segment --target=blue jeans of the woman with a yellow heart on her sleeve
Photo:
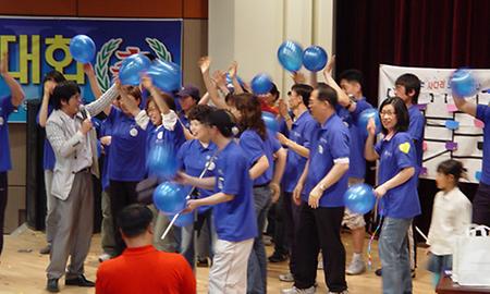
[[[408,228],[412,219],[385,218],[379,236],[383,294],[412,293]]]

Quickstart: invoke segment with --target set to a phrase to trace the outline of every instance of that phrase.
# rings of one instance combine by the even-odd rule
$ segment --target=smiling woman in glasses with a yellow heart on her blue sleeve
[[[375,194],[384,222],[379,237],[383,268],[383,293],[412,293],[407,232],[420,213],[417,194],[417,159],[414,142],[407,133],[408,110],[399,97],[385,99],[380,107],[384,137],[375,146],[375,122],[367,126],[365,157],[379,159]]]

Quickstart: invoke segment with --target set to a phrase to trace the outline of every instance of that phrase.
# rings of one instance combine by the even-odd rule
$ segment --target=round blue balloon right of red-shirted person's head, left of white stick
[[[189,188],[174,182],[163,182],[154,192],[154,205],[166,215],[181,212],[186,206]]]

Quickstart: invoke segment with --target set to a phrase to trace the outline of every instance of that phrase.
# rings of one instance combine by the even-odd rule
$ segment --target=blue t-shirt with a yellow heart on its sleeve
[[[396,133],[390,140],[376,144],[379,155],[378,182],[383,184],[406,168],[417,170],[414,142],[411,134]],[[420,215],[417,193],[417,173],[400,186],[391,188],[381,198],[380,213],[395,219],[408,219]]]

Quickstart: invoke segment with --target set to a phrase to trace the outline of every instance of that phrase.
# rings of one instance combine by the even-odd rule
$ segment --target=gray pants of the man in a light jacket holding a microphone
[[[94,189],[90,172],[75,174],[65,200],[54,198],[57,231],[51,247],[51,261],[46,269],[48,279],[59,279],[70,266],[66,279],[84,273],[84,261],[90,247],[94,226]]]

